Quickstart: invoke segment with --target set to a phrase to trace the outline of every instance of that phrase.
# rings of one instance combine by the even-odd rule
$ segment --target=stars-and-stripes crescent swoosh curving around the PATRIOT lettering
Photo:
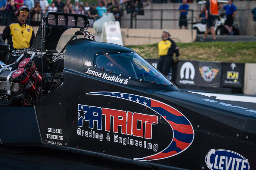
[[[143,106],[147,106],[153,111],[157,112],[168,122],[168,124],[170,124],[173,130],[172,141],[170,142],[170,144],[163,151],[158,152],[157,154],[146,156],[143,158],[134,158],[134,160],[151,161],[172,157],[180,154],[181,152],[189,148],[194,140],[194,130],[189,120],[181,112],[165,103],[148,97],[119,92],[103,91],[91,92],[86,94],[116,97],[119,99],[129,100]]]

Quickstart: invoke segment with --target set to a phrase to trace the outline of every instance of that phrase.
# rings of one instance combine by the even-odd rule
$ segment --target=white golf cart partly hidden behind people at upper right
[[[220,0],[220,3],[228,3],[226,0]],[[200,4],[200,9],[201,9],[201,4],[205,4],[206,1],[199,1],[198,4]],[[220,16],[217,16],[217,19],[214,22],[214,30],[216,31],[216,35],[223,35],[223,34],[228,34],[228,31],[224,27],[226,17],[225,17],[225,12],[220,13]],[[197,31],[197,34],[203,34],[206,30],[206,22],[205,19],[201,19],[201,22],[195,22],[193,23],[193,29]],[[234,21],[233,22],[233,35],[239,35],[239,29],[237,28],[237,24]]]

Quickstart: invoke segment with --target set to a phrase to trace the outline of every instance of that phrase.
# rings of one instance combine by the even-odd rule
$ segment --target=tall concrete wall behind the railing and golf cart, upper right
[[[256,1],[234,1],[237,7],[236,22],[238,24],[240,34],[242,35],[254,35],[256,23],[252,20],[251,10],[256,7]],[[136,23],[133,21],[133,28],[151,28],[159,29],[161,28],[160,18],[161,11],[163,10],[163,19],[175,19],[173,21],[163,21],[163,29],[178,29],[179,28],[179,17],[180,13],[178,11],[181,3],[167,3],[167,4],[150,4],[144,9],[144,15],[137,15],[138,19],[158,19],[158,20],[138,20]],[[225,5],[225,4],[223,4]],[[193,21],[195,22],[198,18],[199,13],[204,5],[198,3],[189,3],[189,9],[193,9]],[[225,10],[220,10],[220,13]],[[130,14],[124,12],[124,16],[121,20],[121,28],[130,28]],[[188,18],[192,17],[192,11],[189,11]],[[189,24],[189,29],[192,28]]]

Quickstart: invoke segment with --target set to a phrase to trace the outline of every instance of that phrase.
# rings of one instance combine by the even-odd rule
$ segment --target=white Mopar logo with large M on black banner
[[[191,79],[193,80],[195,77],[195,67],[191,62],[185,62],[180,68],[180,79]],[[194,81],[191,80],[180,80],[181,84],[195,84]]]

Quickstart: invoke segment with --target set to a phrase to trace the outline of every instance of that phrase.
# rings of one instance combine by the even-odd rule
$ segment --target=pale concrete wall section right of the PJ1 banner
[[[256,95],[256,63],[245,63],[244,94]]]

